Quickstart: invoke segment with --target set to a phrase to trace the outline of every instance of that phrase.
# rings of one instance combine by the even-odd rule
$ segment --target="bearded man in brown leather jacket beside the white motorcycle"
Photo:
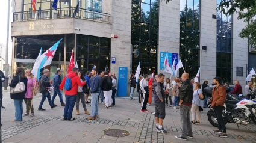
[[[222,111],[224,109],[224,103],[226,101],[226,88],[224,85],[221,85],[221,78],[215,77],[213,79],[213,83],[216,85],[213,88],[213,99],[211,103],[211,107],[213,108],[217,121],[218,121],[218,129],[213,130],[216,133],[220,133],[219,137],[226,138],[226,125],[222,117]]]

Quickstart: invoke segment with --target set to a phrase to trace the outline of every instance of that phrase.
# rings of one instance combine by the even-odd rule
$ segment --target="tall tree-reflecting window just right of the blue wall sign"
[[[180,58],[190,78],[199,69],[200,0],[180,1]],[[184,72],[179,70],[180,75]]]

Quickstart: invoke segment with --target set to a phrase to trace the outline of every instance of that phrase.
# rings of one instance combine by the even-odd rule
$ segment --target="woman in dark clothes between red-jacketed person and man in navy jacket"
[[[80,81],[83,82],[84,81],[84,76],[83,76],[83,72],[82,71],[78,71],[77,73],[78,77],[80,78]],[[87,83],[83,86],[80,87],[78,86],[78,91],[77,91],[77,96],[76,96],[76,115],[79,115],[79,100],[81,99],[83,108],[84,108],[84,114],[90,115],[90,113],[87,111],[86,108],[86,98],[84,96],[84,93],[86,93],[86,88],[87,88]]]

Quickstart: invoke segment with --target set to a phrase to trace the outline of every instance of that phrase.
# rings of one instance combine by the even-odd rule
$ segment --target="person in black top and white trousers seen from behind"
[[[112,78],[108,76],[108,72],[104,72],[104,77],[101,79],[101,90],[105,97],[105,108],[108,109],[112,104]]]

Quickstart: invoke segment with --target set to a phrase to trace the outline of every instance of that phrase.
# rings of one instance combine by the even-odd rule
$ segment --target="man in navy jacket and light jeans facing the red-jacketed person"
[[[92,106],[92,113],[90,117],[86,118],[87,120],[95,120],[95,118],[99,118],[99,105],[98,105],[98,96],[101,87],[101,77],[97,75],[97,70],[93,68],[92,70],[92,84],[91,84],[91,106]]]

